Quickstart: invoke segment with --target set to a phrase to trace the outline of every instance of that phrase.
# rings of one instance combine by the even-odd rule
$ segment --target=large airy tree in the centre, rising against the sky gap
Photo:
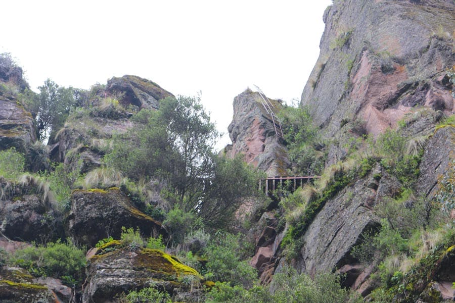
[[[133,120],[138,126],[114,138],[106,162],[134,180],[166,179],[181,209],[194,211],[204,179],[212,175],[219,136],[200,99],[167,97],[160,100],[159,110],[142,110]]]

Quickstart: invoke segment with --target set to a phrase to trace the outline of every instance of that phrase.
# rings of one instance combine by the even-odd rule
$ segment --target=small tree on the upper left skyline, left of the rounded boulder
[[[73,88],[59,87],[51,79],[45,80],[38,88],[39,94],[30,95],[27,107],[36,117],[38,139],[45,141],[52,131],[63,126],[74,105]]]

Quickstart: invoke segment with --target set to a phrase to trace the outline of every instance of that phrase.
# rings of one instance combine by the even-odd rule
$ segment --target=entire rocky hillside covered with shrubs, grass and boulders
[[[0,301],[453,301],[454,13],[335,1],[300,104],[245,90],[221,151],[197,96],[0,54]]]

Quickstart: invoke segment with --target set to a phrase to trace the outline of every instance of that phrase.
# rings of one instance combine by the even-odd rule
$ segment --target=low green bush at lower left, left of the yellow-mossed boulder
[[[85,251],[76,247],[70,239],[66,243],[58,240],[45,246],[30,246],[16,250],[13,263],[34,275],[63,278],[79,284],[84,277]]]

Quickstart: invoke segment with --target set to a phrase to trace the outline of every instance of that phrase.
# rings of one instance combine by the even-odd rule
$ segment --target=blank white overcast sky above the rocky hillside
[[[196,96],[231,143],[234,97],[257,85],[300,100],[319,55],[331,0],[7,1],[0,53],[11,53],[32,90],[51,78],[89,89],[123,75]]]

